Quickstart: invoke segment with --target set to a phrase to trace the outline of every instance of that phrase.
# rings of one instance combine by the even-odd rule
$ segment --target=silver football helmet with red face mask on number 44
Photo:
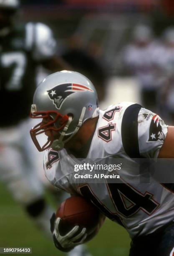
[[[30,117],[42,118],[30,130],[38,151],[53,148],[61,150],[89,118],[99,115],[98,98],[92,82],[73,71],[56,72],[38,85],[33,97]],[[36,136],[49,131],[48,141],[40,146]],[[55,138],[53,131],[59,133]]]

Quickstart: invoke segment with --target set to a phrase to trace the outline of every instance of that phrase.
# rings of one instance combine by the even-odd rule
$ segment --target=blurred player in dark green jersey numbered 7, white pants
[[[53,33],[42,23],[19,23],[19,1],[0,0],[0,180],[31,218],[50,234],[50,207],[33,164],[28,113],[35,90],[36,67],[68,68],[55,56]]]

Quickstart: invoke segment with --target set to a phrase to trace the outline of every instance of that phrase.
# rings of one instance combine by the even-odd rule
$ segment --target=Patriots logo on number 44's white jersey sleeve
[[[153,142],[153,141],[158,141],[158,140],[164,141],[165,136],[162,131],[162,126],[161,126],[159,120],[160,120],[159,115],[153,116],[153,118],[151,120],[150,128],[149,128],[148,142]]]

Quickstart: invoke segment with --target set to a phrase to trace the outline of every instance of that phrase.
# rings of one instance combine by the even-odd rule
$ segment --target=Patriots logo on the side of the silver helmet
[[[68,84],[59,84],[52,89],[48,90],[48,96],[51,100],[53,100],[54,105],[56,108],[60,109],[62,103],[64,100],[75,92],[86,92],[93,90],[85,85],[82,84],[74,84],[74,83],[68,83]]]

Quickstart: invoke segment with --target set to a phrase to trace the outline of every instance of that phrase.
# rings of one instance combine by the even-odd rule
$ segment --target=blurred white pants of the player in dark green
[[[37,151],[29,133],[34,123],[28,118],[19,125],[0,128],[0,180],[23,205],[43,194],[39,177],[39,172],[44,172],[43,154]]]

